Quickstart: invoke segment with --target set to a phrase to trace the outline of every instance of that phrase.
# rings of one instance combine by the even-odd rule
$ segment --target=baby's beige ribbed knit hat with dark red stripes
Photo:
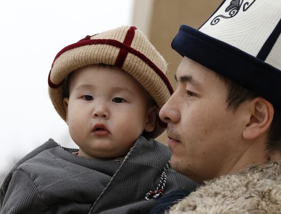
[[[166,76],[167,63],[148,39],[134,26],[122,26],[93,36],[86,36],[77,43],[63,48],[52,64],[49,73],[49,95],[52,103],[66,120],[63,106],[66,76],[83,66],[107,64],[122,68],[132,75],[152,96],[160,108],[173,93]],[[137,113],[136,113],[137,114]],[[167,127],[157,116],[152,132],[145,132],[146,138],[158,137]]]

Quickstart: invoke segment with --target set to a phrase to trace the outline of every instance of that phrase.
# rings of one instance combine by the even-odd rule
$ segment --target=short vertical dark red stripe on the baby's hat
[[[131,26],[130,29],[128,30],[126,37],[124,39],[124,42],[123,42],[125,45],[131,46],[132,41],[135,36],[135,30],[136,30],[135,26]],[[127,56],[128,56],[128,50],[120,48],[120,51],[118,53],[118,56],[117,56],[117,59],[116,59],[116,62],[114,65],[122,68]]]

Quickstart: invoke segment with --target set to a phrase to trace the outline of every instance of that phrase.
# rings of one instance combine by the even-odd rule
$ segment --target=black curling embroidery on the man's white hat
[[[251,3],[250,2],[244,3],[244,0],[242,0],[242,1],[241,0],[232,0],[230,2],[229,6],[225,9],[225,12],[228,13],[229,16],[218,15],[210,22],[210,24],[215,25],[215,24],[219,23],[221,18],[232,18],[232,17],[236,16],[242,6],[243,6],[242,7],[243,12],[245,12],[246,10],[249,9],[249,7],[252,6],[252,4],[254,2],[255,2],[255,0],[253,0]],[[244,5],[243,5],[243,3],[244,3]]]

